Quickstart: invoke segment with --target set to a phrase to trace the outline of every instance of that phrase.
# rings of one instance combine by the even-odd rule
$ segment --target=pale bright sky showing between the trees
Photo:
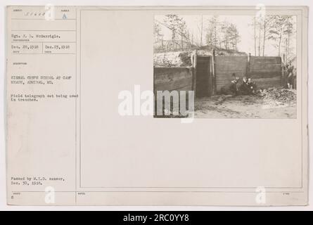
[[[186,22],[187,28],[193,32],[193,37],[197,42],[200,43],[200,25],[201,25],[201,15],[179,15]],[[208,20],[212,15],[203,15],[203,32],[205,32],[205,27],[207,27]],[[155,15],[155,19],[164,22],[164,15]],[[255,42],[254,42],[254,29],[253,29],[253,16],[252,15],[219,15],[219,21],[227,21],[229,23],[234,23],[236,25],[239,35],[241,36],[241,42],[238,43],[238,51],[243,51],[245,53],[255,52]],[[295,22],[295,17],[293,18]],[[164,26],[160,26],[162,33],[164,34],[164,39],[172,39],[172,32]],[[203,44],[205,44],[205,33],[203,35]],[[293,35],[290,44],[295,49],[295,35]],[[278,51],[274,48],[271,41],[267,41],[265,48],[265,55],[267,56],[277,56]]]

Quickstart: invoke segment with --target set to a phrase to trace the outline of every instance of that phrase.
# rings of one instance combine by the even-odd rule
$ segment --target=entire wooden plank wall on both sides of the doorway
[[[196,74],[196,72],[194,72]],[[215,56],[216,90],[231,82],[231,75],[251,77],[259,88],[281,86],[281,57]],[[193,68],[154,68],[154,91],[192,91]]]

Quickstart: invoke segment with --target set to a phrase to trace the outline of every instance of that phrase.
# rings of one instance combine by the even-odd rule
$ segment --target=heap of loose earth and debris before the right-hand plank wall
[[[282,103],[292,103],[297,100],[297,94],[295,90],[283,88],[260,90],[257,95],[265,100],[280,101]]]

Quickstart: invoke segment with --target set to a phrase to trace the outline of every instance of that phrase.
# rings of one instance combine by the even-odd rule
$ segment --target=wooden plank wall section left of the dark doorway
[[[154,91],[192,91],[192,68],[154,68]]]

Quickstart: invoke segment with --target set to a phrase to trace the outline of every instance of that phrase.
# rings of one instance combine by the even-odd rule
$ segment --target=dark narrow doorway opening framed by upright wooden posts
[[[196,97],[212,94],[211,57],[198,56],[196,65]]]

